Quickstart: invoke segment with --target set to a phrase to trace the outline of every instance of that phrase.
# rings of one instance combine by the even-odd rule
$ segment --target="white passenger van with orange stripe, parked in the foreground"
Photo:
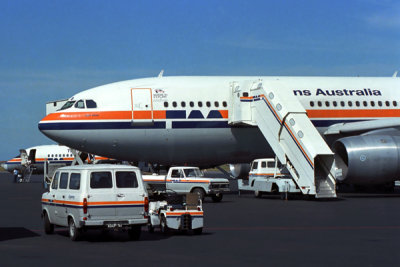
[[[59,168],[49,192],[42,195],[46,234],[54,225],[69,227],[71,240],[90,228],[124,228],[139,239],[148,222],[148,194],[140,170],[97,164]]]

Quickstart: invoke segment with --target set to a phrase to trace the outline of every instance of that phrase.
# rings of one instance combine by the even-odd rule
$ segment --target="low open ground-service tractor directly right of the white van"
[[[155,227],[167,234],[170,229],[193,231],[201,234],[203,231],[203,207],[198,194],[179,195],[175,192],[158,196],[149,204],[149,232]]]

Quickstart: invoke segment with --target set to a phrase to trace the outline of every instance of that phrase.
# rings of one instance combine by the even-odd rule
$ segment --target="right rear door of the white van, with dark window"
[[[116,214],[121,219],[143,219],[144,188],[135,171],[115,171]]]

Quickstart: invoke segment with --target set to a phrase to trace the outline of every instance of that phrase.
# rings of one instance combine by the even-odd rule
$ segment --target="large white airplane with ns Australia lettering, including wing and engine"
[[[400,175],[397,77],[176,76],[134,79],[75,94],[38,124],[50,139],[127,161],[211,167],[274,157],[257,125],[232,124],[246,81],[294,98],[332,147],[342,182],[384,184]],[[236,90],[236,91],[235,91]],[[237,94],[237,95],[236,95]],[[368,160],[365,160],[368,159]]]

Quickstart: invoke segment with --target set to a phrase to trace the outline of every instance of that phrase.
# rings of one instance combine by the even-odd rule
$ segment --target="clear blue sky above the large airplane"
[[[46,102],[173,75],[391,76],[400,1],[0,0],[0,160],[52,144]]]

